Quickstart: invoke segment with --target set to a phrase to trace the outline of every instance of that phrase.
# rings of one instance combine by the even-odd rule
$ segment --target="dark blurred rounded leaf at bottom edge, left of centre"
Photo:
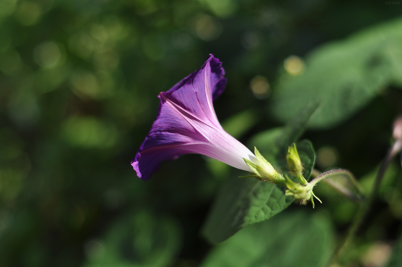
[[[95,251],[86,267],[168,267],[180,250],[181,233],[176,221],[139,212],[115,223],[103,246],[104,255]]]

